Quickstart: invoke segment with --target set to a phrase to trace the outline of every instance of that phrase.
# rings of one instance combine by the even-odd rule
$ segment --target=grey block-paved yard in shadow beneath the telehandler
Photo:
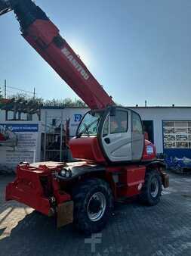
[[[56,229],[54,219],[5,202],[14,176],[0,175],[0,255],[191,255],[191,176],[170,178],[158,205],[118,203],[106,229],[85,238],[72,225]]]

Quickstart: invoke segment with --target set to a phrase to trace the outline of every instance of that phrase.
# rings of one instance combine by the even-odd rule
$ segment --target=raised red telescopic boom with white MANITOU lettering
[[[0,14],[14,11],[22,36],[91,109],[114,105],[60,31],[31,0],[0,0]]]

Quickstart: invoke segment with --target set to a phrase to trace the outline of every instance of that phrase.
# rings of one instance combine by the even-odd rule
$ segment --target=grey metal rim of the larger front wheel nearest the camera
[[[96,192],[88,201],[88,217],[91,221],[98,221],[106,210],[106,197],[102,192]]]

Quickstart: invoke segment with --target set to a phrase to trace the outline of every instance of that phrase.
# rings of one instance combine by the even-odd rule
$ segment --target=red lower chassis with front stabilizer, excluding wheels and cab
[[[162,163],[152,162],[153,167],[159,169],[163,186],[168,187],[168,175],[163,172]],[[6,200],[19,201],[50,217],[57,215],[57,226],[64,226],[73,220],[72,187],[76,182],[91,177],[106,180],[117,200],[140,194],[146,168],[149,168],[149,164],[147,167],[137,164],[109,167],[85,161],[66,164],[23,163],[17,167],[16,180],[6,188]],[[63,169],[71,172],[70,178],[64,180],[60,177],[60,170]],[[65,206],[63,216],[59,211]]]

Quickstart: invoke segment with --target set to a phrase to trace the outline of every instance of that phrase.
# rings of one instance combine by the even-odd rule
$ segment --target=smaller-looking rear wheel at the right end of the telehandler
[[[143,184],[140,201],[143,204],[152,206],[160,201],[162,193],[162,179],[159,171],[149,170],[145,174],[145,183]]]

